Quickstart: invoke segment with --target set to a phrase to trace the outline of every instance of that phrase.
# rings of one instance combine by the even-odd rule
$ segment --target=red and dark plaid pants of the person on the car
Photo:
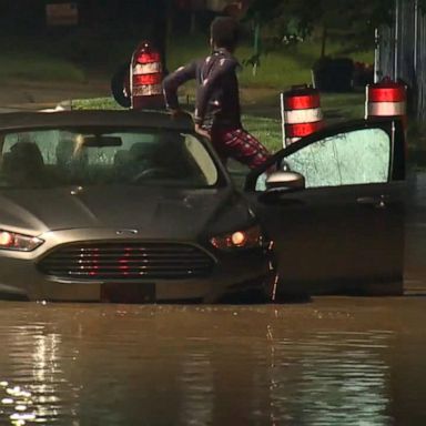
[[[271,154],[261,142],[244,129],[212,129],[212,144],[223,162],[235,159],[250,169],[263,164]]]

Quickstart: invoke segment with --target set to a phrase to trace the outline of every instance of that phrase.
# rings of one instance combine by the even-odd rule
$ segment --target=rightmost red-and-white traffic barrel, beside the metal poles
[[[407,119],[407,88],[389,78],[366,87],[365,118],[384,116]]]

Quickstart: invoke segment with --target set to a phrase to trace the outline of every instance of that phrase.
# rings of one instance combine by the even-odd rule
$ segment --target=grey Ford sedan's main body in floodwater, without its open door
[[[47,301],[271,300],[273,244],[189,120],[0,119],[0,293]]]

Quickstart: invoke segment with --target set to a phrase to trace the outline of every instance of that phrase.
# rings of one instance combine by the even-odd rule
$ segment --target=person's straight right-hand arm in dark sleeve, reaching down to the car
[[[239,62],[235,59],[223,58],[219,61],[210,75],[200,84],[196,92],[194,113],[194,122],[196,125],[201,126],[203,124],[210,98],[214,89],[220,84],[221,79],[226,74],[235,73],[237,65]]]

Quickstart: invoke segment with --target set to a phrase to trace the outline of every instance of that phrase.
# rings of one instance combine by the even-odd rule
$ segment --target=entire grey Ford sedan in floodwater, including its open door
[[[1,114],[1,296],[402,294],[405,152],[399,120],[359,120],[231,178],[189,118]]]

